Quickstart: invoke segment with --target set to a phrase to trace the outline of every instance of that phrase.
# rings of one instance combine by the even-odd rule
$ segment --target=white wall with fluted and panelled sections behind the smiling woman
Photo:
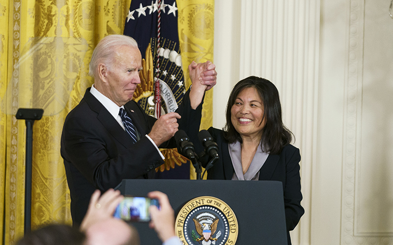
[[[390,0],[216,0],[213,125],[233,85],[280,91],[301,149],[293,244],[393,244],[393,19]]]

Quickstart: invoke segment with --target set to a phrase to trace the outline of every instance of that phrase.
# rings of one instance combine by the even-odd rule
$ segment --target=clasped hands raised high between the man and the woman
[[[188,66],[188,70],[193,87],[204,85],[204,91],[208,91],[217,83],[216,66],[210,61],[198,64],[193,61]]]

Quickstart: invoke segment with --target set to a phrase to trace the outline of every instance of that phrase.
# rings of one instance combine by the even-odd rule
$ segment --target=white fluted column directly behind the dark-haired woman
[[[291,232],[292,243],[309,244],[311,176],[316,156],[320,1],[221,2],[224,1],[216,0],[215,6],[214,57],[218,68],[222,65],[221,60],[225,60],[225,69],[231,71],[232,76],[219,73],[218,83],[225,84],[222,86],[225,86],[223,91],[226,93],[220,90],[218,95],[219,87],[215,88],[214,113],[223,119],[220,122],[214,120],[213,123],[216,127],[224,125],[223,105],[230,89],[240,79],[255,75],[269,79],[277,86],[284,123],[294,133],[294,145],[300,148],[302,154],[302,205],[306,213],[295,231]],[[240,6],[234,7],[239,3]],[[225,12],[225,8],[230,12]],[[224,14],[220,15],[221,11]],[[225,39],[219,34],[222,28],[229,26],[224,23],[236,23],[230,31],[232,39],[228,40],[231,46],[224,43]],[[237,23],[240,23],[240,28]],[[228,33],[226,35],[229,37]],[[225,45],[225,51],[222,51],[222,45]],[[229,57],[227,53],[232,56]],[[238,57],[233,54],[238,54]],[[223,76],[228,77],[230,82],[221,79]]]

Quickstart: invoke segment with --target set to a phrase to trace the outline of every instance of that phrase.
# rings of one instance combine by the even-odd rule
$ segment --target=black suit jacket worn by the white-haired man
[[[179,129],[196,137],[199,130],[202,103],[191,109],[189,92],[176,110],[182,118]],[[124,105],[140,140],[133,144],[109,111],[86,90],[81,102],[67,115],[61,135],[61,156],[64,159],[71,194],[71,216],[79,225],[87,211],[95,189],[105,192],[116,187],[122,179],[154,178],[155,168],[164,163],[157,149],[145,136],[156,119],[144,113],[133,100]],[[174,148],[170,141],[159,146]]]

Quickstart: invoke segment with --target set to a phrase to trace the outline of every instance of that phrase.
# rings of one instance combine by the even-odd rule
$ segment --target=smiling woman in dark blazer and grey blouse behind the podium
[[[208,179],[277,180],[282,182],[288,244],[289,231],[304,209],[300,187],[300,152],[290,145],[292,133],[282,123],[276,86],[250,76],[239,81],[228,99],[224,130],[208,130],[219,147],[220,159],[207,171]],[[203,147],[196,146],[197,152]],[[210,159],[203,159],[202,165]]]

